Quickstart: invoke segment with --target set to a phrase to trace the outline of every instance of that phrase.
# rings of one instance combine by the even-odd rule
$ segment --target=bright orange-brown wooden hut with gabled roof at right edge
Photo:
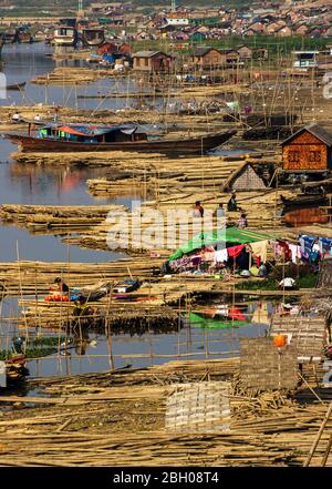
[[[310,124],[282,143],[282,170],[286,172],[326,172],[331,170],[332,134]]]

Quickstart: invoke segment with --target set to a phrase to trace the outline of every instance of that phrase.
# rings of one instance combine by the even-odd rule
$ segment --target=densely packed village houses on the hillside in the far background
[[[135,28],[133,39],[222,39],[224,35],[332,35],[332,4],[253,2],[249,8],[185,8],[144,16],[129,2],[91,3],[87,12],[105,16],[111,27]]]

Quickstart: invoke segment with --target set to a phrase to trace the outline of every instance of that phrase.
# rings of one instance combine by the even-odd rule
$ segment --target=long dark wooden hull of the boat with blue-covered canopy
[[[132,151],[143,153],[201,153],[218,147],[232,137],[237,131],[225,131],[203,137],[183,140],[126,141],[114,143],[84,143],[76,141],[60,141],[46,137],[33,137],[18,134],[3,134],[17,143],[24,153],[29,152],[94,152],[94,151]]]

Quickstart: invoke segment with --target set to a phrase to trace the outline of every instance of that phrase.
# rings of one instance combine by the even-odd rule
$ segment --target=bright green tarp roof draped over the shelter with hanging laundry
[[[185,245],[180,246],[168,261],[178,259],[183,255],[187,255],[195,249],[200,249],[203,246],[215,246],[218,243],[225,243],[227,247],[236,244],[256,243],[264,240],[273,240],[266,234],[256,233],[255,231],[241,230],[239,227],[227,227],[225,231],[209,231],[194,236]]]

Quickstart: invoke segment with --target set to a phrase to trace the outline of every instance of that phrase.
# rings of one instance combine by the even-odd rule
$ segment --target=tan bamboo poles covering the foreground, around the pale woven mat
[[[226,361],[228,366],[230,363],[232,371],[237,360]],[[332,419],[326,420],[318,438],[326,405],[298,405],[279,391],[253,395],[231,389],[229,431],[166,431],[165,401],[180,386],[178,379],[169,383],[167,374],[195,373],[195,381],[200,370],[200,381],[205,381],[211,366],[217,373],[219,367],[221,375],[229,368],[220,360],[173,363],[133,374],[105,374],[104,378],[90,375],[91,384],[86,384],[87,375],[34,380],[53,397],[25,398],[25,403],[48,407],[25,409],[23,418],[19,406],[3,414],[1,465],[302,466],[309,452],[313,454],[310,465],[321,465],[324,456],[325,463],[331,465],[326,447]],[[146,374],[155,385],[132,385],[135,378],[144,380]],[[117,380],[122,377],[123,384],[110,387],[113,376]],[[23,399],[1,396],[0,400],[18,404]]]

